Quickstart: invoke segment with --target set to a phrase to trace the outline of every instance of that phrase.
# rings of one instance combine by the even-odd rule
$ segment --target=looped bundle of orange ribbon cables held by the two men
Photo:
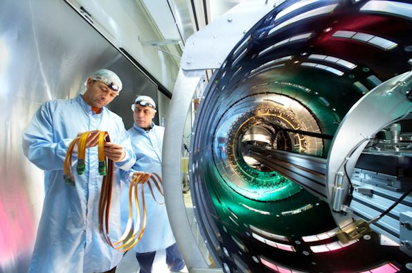
[[[76,170],[78,175],[82,175],[86,170],[86,144],[87,138],[91,132],[84,132],[80,136],[77,136],[70,143],[69,148],[64,159],[64,181],[72,186],[75,186],[73,173],[71,170],[72,163],[71,157],[75,144],[78,143],[78,164]],[[134,175],[134,179],[129,186],[129,217],[127,219],[127,224],[123,235],[120,239],[114,243],[111,243],[111,238],[109,236],[109,213],[110,213],[110,202],[111,202],[111,189],[113,187],[113,161],[105,157],[105,142],[109,142],[110,137],[107,132],[100,132],[98,136],[98,170],[99,174],[103,175],[102,179],[102,190],[100,193],[99,202],[99,229],[105,242],[114,249],[118,249],[122,252],[127,252],[127,250],[134,247],[138,241],[143,236],[146,226],[146,206],[145,206],[145,193],[144,186],[147,183],[150,189],[150,193],[153,199],[157,202],[154,196],[152,184],[150,180],[156,186],[156,189],[161,195],[163,194],[163,182],[161,177],[156,173],[139,173]],[[143,215],[141,215],[141,208],[138,202],[138,184],[141,184],[141,199],[143,204]],[[134,206],[133,206],[134,203]],[[163,204],[159,203],[158,204]],[[136,221],[133,220],[133,212],[136,208]],[[134,222],[134,224],[133,224]],[[138,231],[140,232],[138,233]]]

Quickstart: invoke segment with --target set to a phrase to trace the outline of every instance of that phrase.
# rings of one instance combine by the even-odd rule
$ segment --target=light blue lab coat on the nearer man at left
[[[92,130],[109,132],[111,142],[127,151],[125,159],[114,164],[109,218],[111,238],[117,240],[121,235],[118,168],[128,170],[136,160],[122,119],[106,107],[100,114],[92,112],[81,95],[71,100],[50,100],[37,110],[23,135],[24,154],[44,170],[45,189],[29,272],[104,272],[118,265],[123,256],[100,236],[102,175],[98,173],[98,147],[87,149],[83,175],[77,175],[77,152],[73,152],[75,188],[63,179],[69,144],[79,132]]]

